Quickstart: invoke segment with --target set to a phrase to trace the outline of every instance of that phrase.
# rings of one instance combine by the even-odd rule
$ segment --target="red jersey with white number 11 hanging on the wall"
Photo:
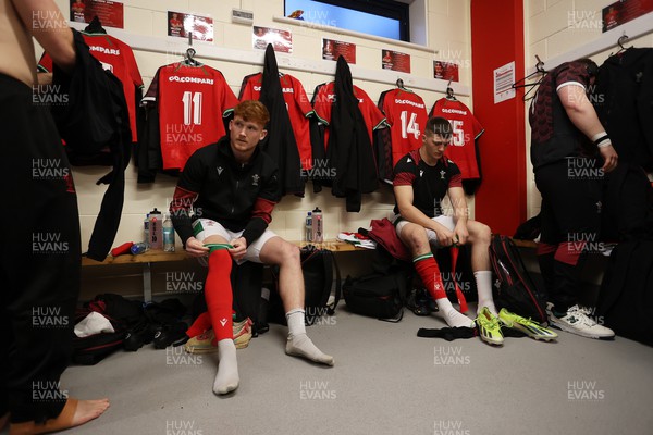
[[[222,119],[238,99],[220,71],[174,63],[157,71],[143,103],[157,107],[163,169],[183,170],[197,149],[225,135]]]

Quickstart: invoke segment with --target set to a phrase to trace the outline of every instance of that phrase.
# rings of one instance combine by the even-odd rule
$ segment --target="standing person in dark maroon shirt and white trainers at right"
[[[551,323],[583,337],[613,338],[614,332],[592,320],[591,309],[578,301],[586,248],[597,241],[603,175],[618,159],[586,95],[596,70],[581,59],[542,79],[529,114],[530,153],[542,194],[538,260],[553,304]]]

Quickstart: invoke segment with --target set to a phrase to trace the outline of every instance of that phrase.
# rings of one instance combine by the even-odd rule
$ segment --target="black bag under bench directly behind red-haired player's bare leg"
[[[335,314],[341,299],[342,278],[333,252],[312,245],[301,248],[301,272],[304,274],[306,324],[312,325],[324,315]],[[275,285],[279,286],[279,268],[272,268]],[[334,301],[329,298],[334,291]],[[269,321],[285,324],[285,314],[279,291],[270,295]]]

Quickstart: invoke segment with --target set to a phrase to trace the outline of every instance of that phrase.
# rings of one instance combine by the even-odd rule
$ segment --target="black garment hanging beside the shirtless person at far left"
[[[130,163],[132,133],[122,83],[88,49],[82,34],[73,29],[76,63],[69,75],[53,67],[53,88],[67,96],[67,104],[54,104],[50,111],[59,134],[65,140],[71,163],[75,159],[110,156],[113,170],[97,184],[108,184],[88,244],[87,257],[107,258],[122,214],[125,169]]]

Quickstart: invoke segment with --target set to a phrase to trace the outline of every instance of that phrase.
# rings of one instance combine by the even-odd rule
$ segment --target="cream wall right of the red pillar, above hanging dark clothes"
[[[626,34],[626,44],[634,47],[653,47],[653,13],[617,26],[605,34],[601,32],[603,8],[615,0],[528,0],[525,2],[526,65],[525,75],[534,69],[535,55],[552,70],[562,61],[590,58],[601,65],[611,53],[619,50],[617,40]],[[633,35],[640,35],[633,37]],[[518,77],[520,78],[520,77]],[[527,110],[527,152],[530,148],[530,127]],[[529,156],[527,153],[527,156]],[[540,212],[541,197],[535,187],[532,166],[528,164],[528,215]]]

